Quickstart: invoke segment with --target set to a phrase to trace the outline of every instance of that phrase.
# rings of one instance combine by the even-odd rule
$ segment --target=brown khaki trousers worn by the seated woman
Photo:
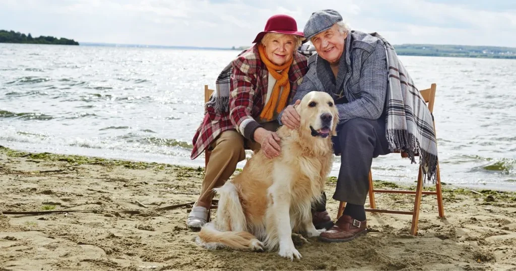
[[[262,123],[262,126],[268,131],[275,132],[279,124],[277,121],[271,121]],[[246,158],[246,148],[257,152],[260,150],[260,144],[246,139],[235,130],[224,131],[213,141],[210,146],[212,154],[206,165],[206,175],[202,181],[201,195],[198,200],[202,206],[211,205],[215,196],[213,188],[224,185],[233,175],[236,164]]]

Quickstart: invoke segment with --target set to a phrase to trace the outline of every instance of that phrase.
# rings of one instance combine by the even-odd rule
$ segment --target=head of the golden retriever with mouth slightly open
[[[304,95],[296,110],[301,117],[301,131],[321,138],[336,135],[338,111],[330,94],[311,91]]]

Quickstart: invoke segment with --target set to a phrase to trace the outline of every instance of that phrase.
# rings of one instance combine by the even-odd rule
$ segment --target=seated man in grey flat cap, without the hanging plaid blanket
[[[347,202],[344,214],[320,238],[346,242],[367,233],[364,204],[369,170],[374,157],[390,153],[383,114],[388,86],[385,49],[380,39],[350,31],[334,10],[314,12],[304,35],[317,54],[310,57],[309,71],[293,101],[312,90],[333,96],[340,117],[334,149],[341,153],[333,199]],[[293,105],[283,110],[279,121],[297,128],[299,115]]]

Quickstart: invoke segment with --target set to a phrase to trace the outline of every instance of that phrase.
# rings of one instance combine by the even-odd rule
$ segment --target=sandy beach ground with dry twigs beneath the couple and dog
[[[203,170],[2,147],[0,213],[69,212],[0,214],[0,270],[516,270],[516,194],[449,185],[444,219],[435,197],[423,196],[417,236],[408,215],[368,213],[369,234],[296,242],[301,260],[205,250],[185,226],[191,205],[170,208],[196,199]],[[328,195],[334,186],[329,179]],[[328,201],[333,217],[337,206]],[[412,200],[377,195],[377,206],[410,210]]]

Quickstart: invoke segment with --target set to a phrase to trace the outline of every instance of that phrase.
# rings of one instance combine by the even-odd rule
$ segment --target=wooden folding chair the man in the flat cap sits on
[[[433,113],[433,102],[436,98],[436,84],[432,84],[429,89],[421,90],[421,95],[425,102],[428,103],[428,109],[430,110],[430,113]],[[433,129],[435,131],[436,129],[436,123],[433,122]],[[436,136],[437,141],[437,136]],[[397,152],[399,153],[399,152]],[[407,153],[401,152],[401,157],[406,158],[408,157]],[[374,189],[373,187],[373,176],[371,171],[369,171],[369,203],[370,203],[370,209],[365,209],[365,211],[373,212],[373,213],[389,213],[389,214],[407,214],[412,215],[412,226],[410,229],[410,234],[416,235],[417,234],[417,224],[419,221],[419,214],[420,214],[420,207],[421,207],[421,196],[424,195],[436,195],[437,196],[437,205],[438,205],[438,211],[439,211],[439,217],[444,217],[444,207],[443,207],[443,196],[441,192],[441,176],[439,171],[439,164],[437,164],[437,172],[436,172],[436,191],[424,191],[423,190],[423,172],[421,169],[421,166],[419,168],[419,173],[417,176],[417,187],[415,191],[409,191],[409,190],[385,190],[385,189]],[[414,209],[412,211],[395,211],[395,210],[381,210],[376,209],[376,203],[375,203],[375,193],[392,193],[392,194],[413,194],[415,195],[414,199]],[[346,206],[346,203],[341,201],[341,203],[338,206],[338,212],[337,212],[337,218],[341,217],[342,213],[344,212],[344,207]]]

